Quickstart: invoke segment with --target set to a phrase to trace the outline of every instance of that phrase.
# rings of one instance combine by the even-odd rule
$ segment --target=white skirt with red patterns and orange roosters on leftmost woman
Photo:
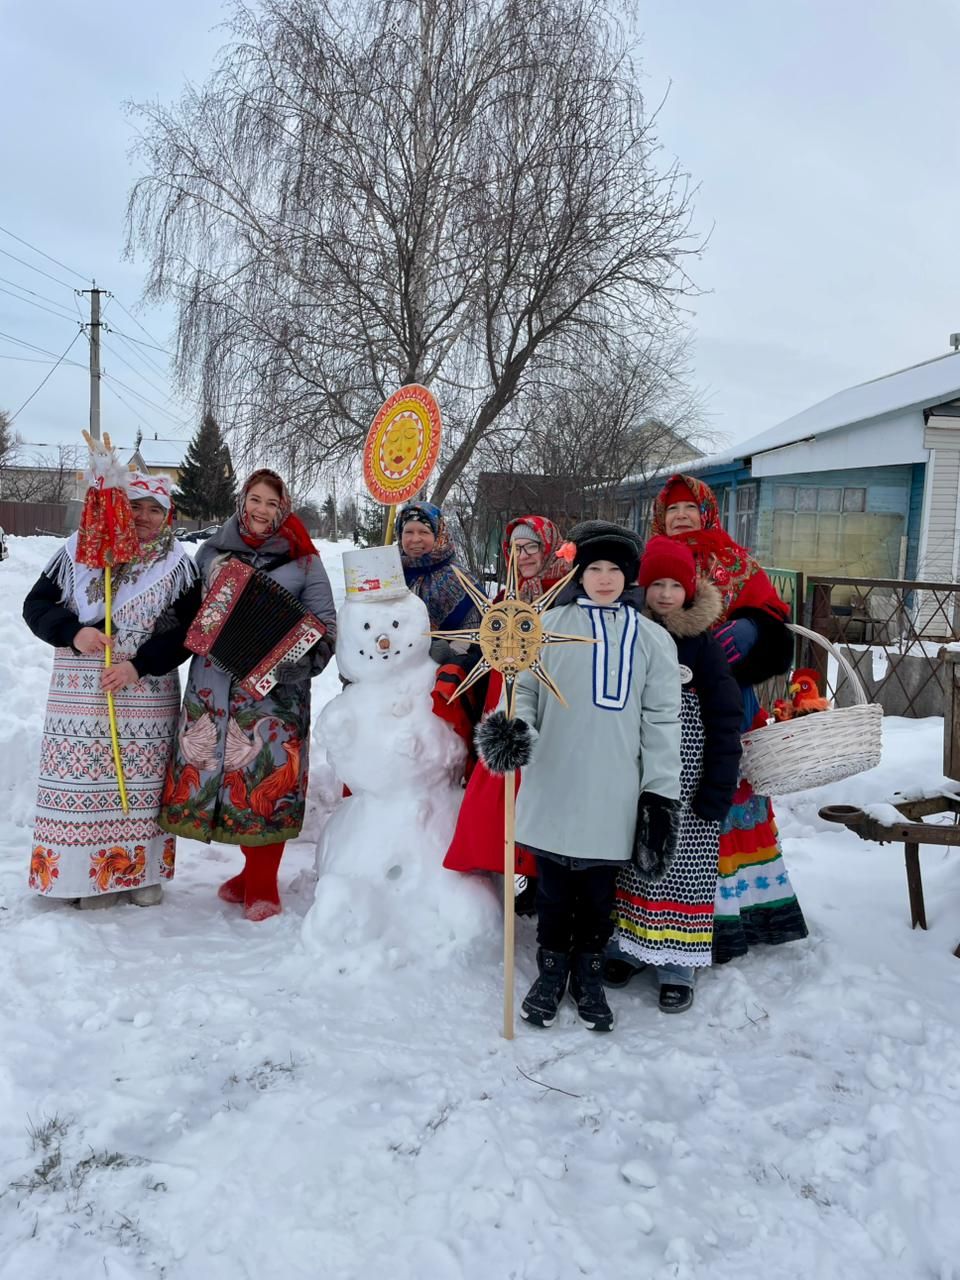
[[[56,649],[50,681],[29,887],[91,897],[170,879],[175,840],[157,826],[177,730],[177,672],[114,695],[129,812],[116,786],[102,658]]]

